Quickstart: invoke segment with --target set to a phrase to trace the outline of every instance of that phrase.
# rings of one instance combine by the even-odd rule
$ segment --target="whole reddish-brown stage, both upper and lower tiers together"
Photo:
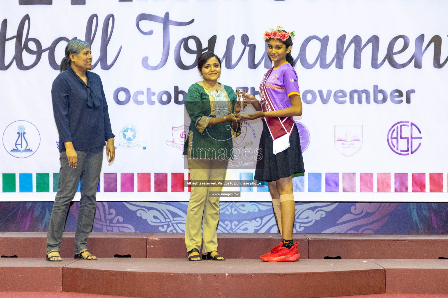
[[[64,260],[47,262],[46,236],[0,232],[0,255],[9,256],[0,258],[0,291],[207,298],[448,294],[448,260],[439,259],[448,257],[448,235],[295,234],[302,258],[293,263],[259,259],[278,245],[276,234],[219,233],[227,260],[201,262],[186,259],[184,235],[176,233],[91,233],[87,243],[96,261],[74,260],[74,233],[64,233]],[[341,259],[329,259],[335,257]]]

